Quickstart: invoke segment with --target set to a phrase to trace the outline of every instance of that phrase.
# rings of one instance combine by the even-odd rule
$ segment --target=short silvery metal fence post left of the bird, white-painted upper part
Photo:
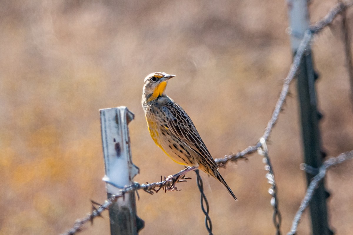
[[[131,160],[128,123],[134,118],[127,107],[101,109],[101,131],[108,198],[133,183],[139,169]],[[144,221],[137,217],[134,193],[120,197],[109,208],[111,235],[137,235]]]

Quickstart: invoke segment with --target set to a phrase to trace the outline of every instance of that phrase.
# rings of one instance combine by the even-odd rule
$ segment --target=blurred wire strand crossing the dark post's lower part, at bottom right
[[[319,168],[319,173],[312,178],[309,187],[306,190],[305,197],[301,201],[299,206],[299,210],[294,216],[291,231],[287,233],[287,235],[294,235],[297,233],[298,224],[300,222],[300,218],[303,215],[305,208],[309,205],[312,195],[319,184],[319,182],[325,177],[326,171],[329,167],[340,164],[346,160],[353,158],[353,150],[345,153],[341,153],[337,157],[330,157],[328,160],[324,161],[322,166]]]

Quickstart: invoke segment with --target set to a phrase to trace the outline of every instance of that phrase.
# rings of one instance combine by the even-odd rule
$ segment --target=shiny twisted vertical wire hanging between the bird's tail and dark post
[[[268,192],[272,196],[271,205],[273,207],[273,223],[276,228],[276,235],[281,235],[280,227],[281,227],[282,217],[281,217],[280,210],[278,209],[277,186],[275,181],[275,175],[273,173],[273,167],[270,161],[270,156],[268,154],[268,148],[267,148],[265,138],[262,137],[259,142],[261,143],[261,147],[259,147],[257,151],[260,155],[264,156],[263,162],[266,164],[265,169],[268,171],[266,174],[266,178],[268,180],[268,183],[271,184],[271,187],[268,190]]]

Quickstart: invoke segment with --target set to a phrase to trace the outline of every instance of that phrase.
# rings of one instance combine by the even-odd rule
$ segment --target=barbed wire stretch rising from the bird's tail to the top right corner
[[[344,4],[342,2],[336,4],[334,7],[331,8],[331,10],[326,14],[326,16],[323,19],[319,20],[317,23],[310,26],[310,30],[307,30],[305,32],[304,38],[300,42],[297,53],[294,56],[294,60],[291,65],[291,68],[288,72],[288,75],[283,82],[282,91],[280,93],[280,97],[277,100],[277,103],[276,103],[275,109],[272,113],[271,119],[267,123],[264,134],[261,137],[261,138],[264,138],[265,141],[268,140],[268,137],[271,133],[271,130],[277,122],[278,116],[282,110],[283,103],[288,95],[289,85],[291,84],[291,81],[293,80],[293,78],[295,77],[295,75],[298,72],[301,58],[303,58],[303,55],[304,55],[304,53],[305,53],[305,51],[306,51],[306,49],[312,39],[312,36],[314,34],[319,33],[321,30],[323,30],[326,26],[328,26],[335,19],[335,17],[339,13],[341,13],[347,7],[350,7],[352,5],[353,5],[353,2],[351,2],[349,4]],[[255,146],[249,146],[246,149],[244,149],[243,151],[240,151],[238,153],[226,155],[222,158],[217,158],[217,159],[215,159],[215,161],[218,166],[223,167],[227,164],[228,161],[237,161],[239,159],[246,159],[246,155],[254,153],[259,147],[261,147],[260,142],[258,142]]]

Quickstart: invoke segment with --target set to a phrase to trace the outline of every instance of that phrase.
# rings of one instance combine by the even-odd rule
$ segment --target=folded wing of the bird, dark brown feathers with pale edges
[[[195,125],[180,105],[170,99],[163,108],[167,117],[168,129],[181,140],[187,147],[192,149],[206,162],[218,169],[215,160],[212,158],[206,145],[198,134]]]

